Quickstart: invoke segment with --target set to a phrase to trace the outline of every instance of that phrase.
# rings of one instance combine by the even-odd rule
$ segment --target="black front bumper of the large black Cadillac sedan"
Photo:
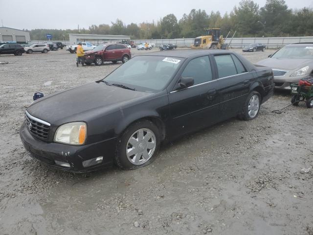
[[[83,173],[99,168],[112,166],[115,153],[116,139],[101,141],[87,145],[75,146],[55,142],[45,142],[32,136],[25,122],[20,129],[22,143],[30,156],[55,168],[73,173]],[[103,157],[99,164],[83,166],[83,162],[97,157]],[[57,162],[67,163],[70,166],[61,166]]]

